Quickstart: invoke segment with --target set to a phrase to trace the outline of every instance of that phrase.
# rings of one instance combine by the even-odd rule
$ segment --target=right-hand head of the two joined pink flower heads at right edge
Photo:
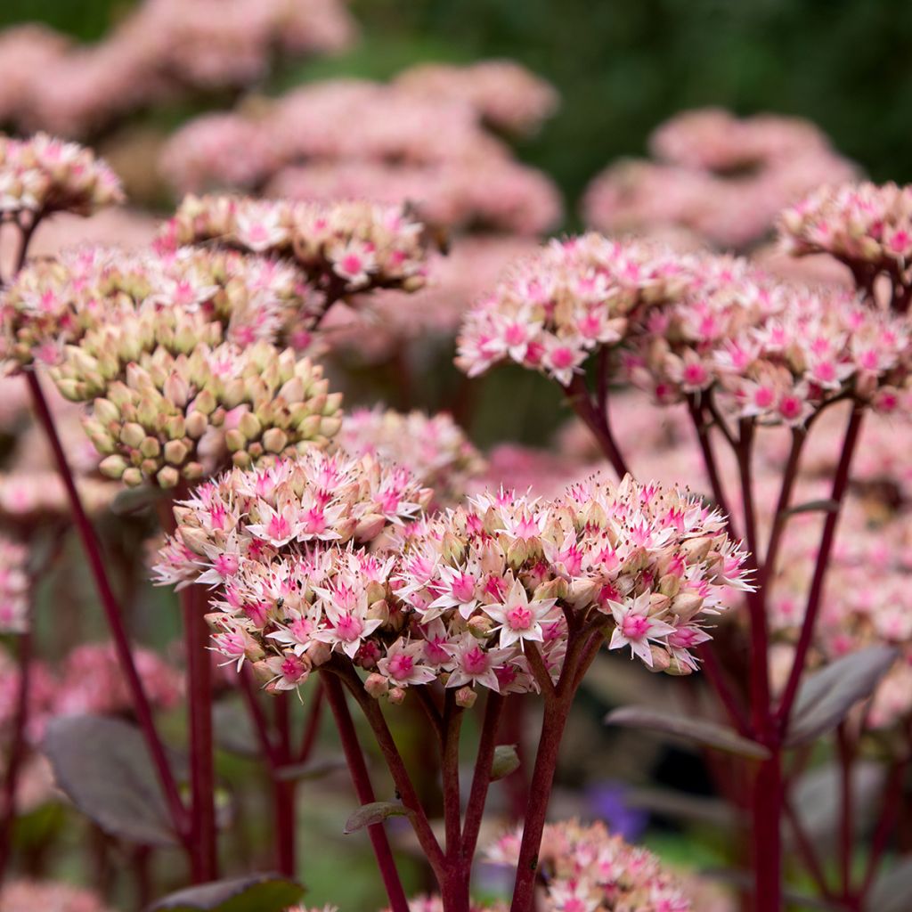
[[[851,396],[904,401],[907,326],[852,295],[780,285],[741,260],[694,257],[679,300],[632,335],[627,376],[661,403],[710,388],[739,418],[798,426]]]

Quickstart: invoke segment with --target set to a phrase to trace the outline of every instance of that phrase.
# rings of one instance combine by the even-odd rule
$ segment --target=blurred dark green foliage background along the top
[[[912,4],[906,0],[353,0],[362,27],[340,57],[290,67],[267,90],[313,78],[387,78],[421,60],[512,57],[554,82],[562,108],[519,150],[575,202],[607,161],[645,150],[682,109],[721,105],[818,123],[877,181],[912,180]],[[124,0],[4,0],[0,26],[40,20],[83,40]],[[876,115],[874,112],[876,111]],[[189,113],[189,112],[188,112]]]

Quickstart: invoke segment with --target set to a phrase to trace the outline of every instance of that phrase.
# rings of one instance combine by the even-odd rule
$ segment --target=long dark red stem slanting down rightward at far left
[[[181,793],[178,791],[177,782],[171,772],[168,755],[155,728],[155,720],[152,715],[149,698],[146,696],[142,679],[140,679],[133,660],[133,653],[123,625],[120,606],[113,589],[111,589],[104,558],[101,554],[101,545],[82,505],[82,499],[79,497],[73,473],[67,463],[67,456],[57,435],[57,427],[54,424],[50,409],[47,407],[47,399],[45,399],[44,391],[41,389],[41,384],[36,374],[32,371],[26,372],[26,382],[32,396],[32,404],[35,408],[37,419],[45,431],[51,450],[54,452],[57,472],[64,483],[64,487],[67,489],[70,510],[73,513],[73,522],[76,523],[79,539],[86,554],[92,577],[95,580],[95,586],[98,589],[98,596],[101,599],[101,606],[108,622],[119,666],[126,679],[127,689],[130,691],[133,711],[136,713],[137,721],[140,723],[140,729],[149,748],[152,763],[171,812],[171,824],[184,845],[187,845],[190,834],[186,808],[181,802]]]

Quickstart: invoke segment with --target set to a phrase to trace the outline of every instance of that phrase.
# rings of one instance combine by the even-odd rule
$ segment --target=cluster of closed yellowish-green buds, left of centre
[[[84,425],[104,475],[173,488],[326,446],[341,397],[322,369],[222,337],[200,311],[148,306],[64,348],[50,374],[67,399],[92,403]]]

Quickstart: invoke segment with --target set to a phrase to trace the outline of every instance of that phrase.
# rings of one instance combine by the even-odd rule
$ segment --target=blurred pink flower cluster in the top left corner
[[[0,121],[84,135],[192,90],[244,87],[276,52],[337,51],[354,32],[342,0],[145,0],[93,46],[10,28],[0,34]]]

